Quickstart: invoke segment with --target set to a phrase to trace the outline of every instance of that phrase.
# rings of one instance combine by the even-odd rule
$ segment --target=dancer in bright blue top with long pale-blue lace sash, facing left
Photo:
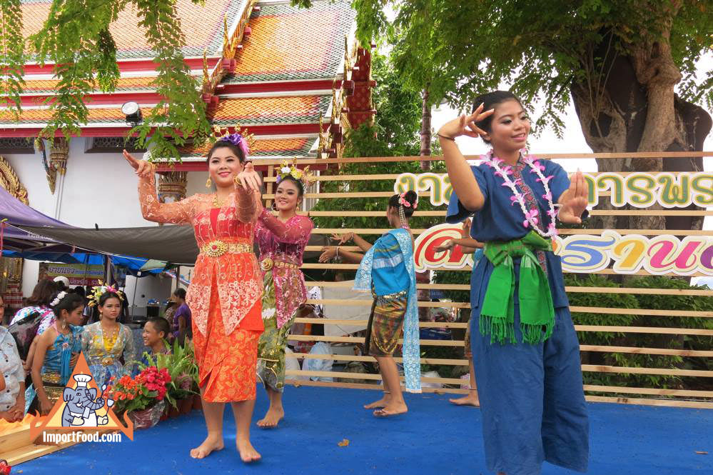
[[[386,206],[386,219],[394,229],[371,245],[353,233],[334,236],[340,244],[353,240],[365,254],[325,248],[320,262],[341,256],[350,263],[360,263],[354,289],[371,291],[371,306],[366,330],[366,354],[374,356],[384,384],[382,399],[364,406],[375,409],[374,416],[388,417],[408,411],[401,392],[401,381],[393,354],[403,329],[403,367],[406,390],[421,391],[420,349],[416,274],[413,262],[413,236],[408,219],[418,206],[415,191],[395,194]]]

